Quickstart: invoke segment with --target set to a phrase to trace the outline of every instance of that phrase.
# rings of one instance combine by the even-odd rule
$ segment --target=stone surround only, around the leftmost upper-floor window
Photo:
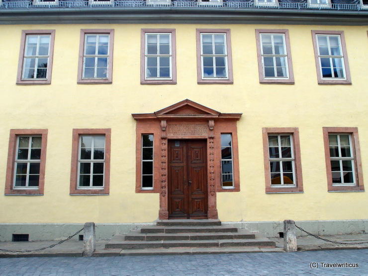
[[[49,45],[49,61],[47,65],[47,78],[46,79],[22,79],[23,74],[23,63],[24,63],[24,51],[27,35],[50,35]],[[22,30],[20,39],[20,50],[19,50],[19,61],[18,71],[16,76],[16,84],[51,84],[52,75],[52,62],[54,57],[54,41],[55,41],[55,30]]]

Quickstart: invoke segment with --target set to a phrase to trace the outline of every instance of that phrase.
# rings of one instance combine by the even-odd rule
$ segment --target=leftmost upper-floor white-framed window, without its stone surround
[[[50,35],[27,35],[22,79],[47,79]]]

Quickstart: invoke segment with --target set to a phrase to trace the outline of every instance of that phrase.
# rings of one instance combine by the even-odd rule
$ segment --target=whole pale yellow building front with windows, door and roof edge
[[[0,240],[368,231],[367,7],[2,0]]]

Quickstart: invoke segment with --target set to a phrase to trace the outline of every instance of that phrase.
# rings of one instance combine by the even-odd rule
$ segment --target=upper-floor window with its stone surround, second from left
[[[114,30],[81,30],[78,83],[111,83]]]

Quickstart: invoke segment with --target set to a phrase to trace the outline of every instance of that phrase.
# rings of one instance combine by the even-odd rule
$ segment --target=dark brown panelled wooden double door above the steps
[[[207,218],[207,140],[168,142],[169,219]]]

